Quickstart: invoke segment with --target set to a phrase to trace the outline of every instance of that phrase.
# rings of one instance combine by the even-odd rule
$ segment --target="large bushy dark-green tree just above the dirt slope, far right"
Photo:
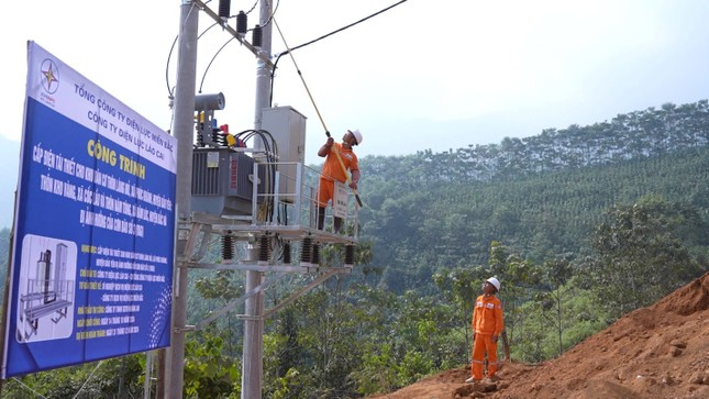
[[[706,269],[685,246],[701,230],[697,209],[645,196],[610,211],[596,233],[598,257],[589,262],[595,291],[611,317],[649,306]]]

